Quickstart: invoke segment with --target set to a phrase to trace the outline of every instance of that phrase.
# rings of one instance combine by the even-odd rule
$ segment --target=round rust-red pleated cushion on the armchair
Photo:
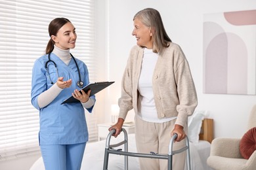
[[[256,127],[249,129],[239,143],[239,150],[245,159],[249,159],[256,150]]]

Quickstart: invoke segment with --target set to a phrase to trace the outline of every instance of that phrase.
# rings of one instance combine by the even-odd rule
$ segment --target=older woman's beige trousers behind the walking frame
[[[135,138],[137,152],[149,154],[168,154],[171,131],[175,120],[164,123],[146,122],[135,116]],[[184,127],[187,132],[187,127]],[[185,140],[173,144],[173,150],[178,150],[185,146]],[[184,170],[186,152],[173,156],[173,170]],[[140,170],[167,170],[168,161],[155,158],[139,158]]]

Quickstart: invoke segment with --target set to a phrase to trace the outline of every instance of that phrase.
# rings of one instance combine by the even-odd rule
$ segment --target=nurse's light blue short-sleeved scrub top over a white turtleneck
[[[32,71],[32,105],[39,110],[40,131],[39,144],[75,144],[88,141],[87,123],[85,120],[85,110],[81,103],[66,103],[60,105],[64,99],[70,97],[77,87],[79,74],[75,61],[79,67],[81,80],[84,85],[89,84],[89,73],[87,66],[79,59],[71,59],[66,65],[55,54],[51,53],[51,60],[56,63],[58,75],[63,76],[64,80],[72,79],[70,88],[65,88],[60,94],[46,107],[39,108],[37,103],[38,95],[48,90],[56,82],[58,75],[52,62],[48,63],[49,73],[45,69],[45,63],[48,61],[48,54],[38,58]],[[51,80],[49,79],[51,76]],[[91,96],[95,100],[95,95]],[[93,107],[87,109],[89,112]]]

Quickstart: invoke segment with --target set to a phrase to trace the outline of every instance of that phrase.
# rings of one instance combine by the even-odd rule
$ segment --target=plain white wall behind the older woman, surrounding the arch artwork
[[[108,58],[109,79],[116,83],[110,88],[110,104],[120,96],[121,76],[136,44],[133,16],[141,9],[157,9],[165,29],[173,42],[181,45],[194,77],[198,93],[198,110],[207,110],[215,120],[215,137],[242,137],[246,131],[248,114],[256,104],[256,95],[221,95],[203,93],[203,14],[256,9],[255,0],[108,0]],[[255,38],[255,37],[252,37]],[[106,105],[110,109],[110,105]],[[109,115],[106,119],[109,119]]]

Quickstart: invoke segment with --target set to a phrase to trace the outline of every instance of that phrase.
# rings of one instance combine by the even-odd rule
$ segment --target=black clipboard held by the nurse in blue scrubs
[[[101,90],[103,90],[104,88],[110,86],[111,84],[113,84],[114,82],[95,82],[95,83],[90,83],[87,86],[85,86],[84,88],[82,88],[81,90],[83,90],[85,93],[87,93],[89,90],[91,90],[90,96],[91,95],[95,95],[96,93],[100,92]],[[81,90],[79,90],[79,92],[81,93]],[[65,99],[62,104],[65,103],[77,103],[80,102],[79,100],[75,99],[73,97],[73,95],[71,95],[68,99]]]

